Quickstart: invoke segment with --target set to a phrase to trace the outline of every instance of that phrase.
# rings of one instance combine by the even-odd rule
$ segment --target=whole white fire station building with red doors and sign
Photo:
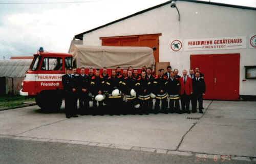
[[[248,69],[245,78],[245,66],[256,65],[256,8],[194,0],[178,0],[172,8],[173,3],[75,38],[84,45],[156,46],[156,61],[170,62],[180,75],[183,69],[199,66],[207,85],[205,99],[256,96],[256,67]]]

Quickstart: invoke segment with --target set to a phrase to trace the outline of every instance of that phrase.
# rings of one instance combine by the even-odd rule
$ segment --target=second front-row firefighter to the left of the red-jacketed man
[[[167,113],[167,89],[166,84],[167,79],[163,77],[164,69],[159,69],[159,75],[153,81],[153,93],[156,95],[156,104],[155,104],[155,114],[157,114],[160,110],[160,101],[162,102],[161,110],[164,113]]]

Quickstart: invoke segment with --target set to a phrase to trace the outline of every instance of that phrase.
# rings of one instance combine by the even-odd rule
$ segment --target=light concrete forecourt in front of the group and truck
[[[85,115],[66,119],[64,113],[41,113],[39,107],[30,106],[0,111],[0,136],[198,160],[222,157],[256,162],[256,102],[204,101],[204,107],[203,115]]]

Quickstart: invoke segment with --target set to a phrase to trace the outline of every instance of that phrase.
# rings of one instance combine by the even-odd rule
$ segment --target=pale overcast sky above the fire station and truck
[[[0,0],[0,59],[67,53],[74,35],[167,0]],[[210,0],[256,7],[256,0]]]

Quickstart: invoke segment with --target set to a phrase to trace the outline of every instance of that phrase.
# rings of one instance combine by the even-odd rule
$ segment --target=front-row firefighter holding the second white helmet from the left
[[[121,105],[122,105],[122,97],[120,92],[120,79],[116,76],[116,70],[112,69],[111,77],[108,78],[106,81],[106,86],[108,86],[109,95],[108,95],[108,102],[106,105],[108,106],[108,110],[110,111],[110,115],[115,113],[120,114]],[[118,95],[112,95],[112,92],[118,89]]]

